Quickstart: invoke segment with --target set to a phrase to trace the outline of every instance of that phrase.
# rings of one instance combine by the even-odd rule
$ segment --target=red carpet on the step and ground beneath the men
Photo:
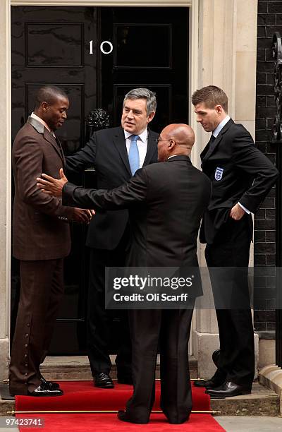
[[[115,388],[94,388],[92,381],[61,381],[64,391],[61,397],[16,396],[16,411],[63,411],[63,410],[118,410],[125,408],[125,402],[132,395],[130,385],[116,384]],[[159,410],[160,383],[156,383],[156,402],[154,410]],[[209,410],[209,397],[204,390],[192,385],[193,410]],[[124,423],[116,414],[18,414],[21,417],[44,418],[44,428],[20,428],[20,432],[125,432],[141,431],[223,431],[223,428],[210,414],[191,414],[187,423],[182,425],[168,424],[163,414],[151,414],[149,424],[138,425]]]

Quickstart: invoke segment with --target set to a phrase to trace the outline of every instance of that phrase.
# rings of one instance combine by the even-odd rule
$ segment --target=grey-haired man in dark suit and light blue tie
[[[125,95],[121,126],[94,132],[75,155],[66,157],[67,175],[94,167],[97,188],[111,189],[128,181],[136,169],[157,162],[156,138],[147,128],[157,102],[153,92],[135,88]],[[134,138],[133,142],[131,142]],[[113,388],[109,376],[111,316],[104,308],[105,267],[123,266],[128,246],[128,210],[98,213],[90,224],[86,245],[90,247],[90,286],[87,301],[87,349],[94,385]],[[118,382],[132,384],[128,314],[119,311],[121,334],[116,356]]]

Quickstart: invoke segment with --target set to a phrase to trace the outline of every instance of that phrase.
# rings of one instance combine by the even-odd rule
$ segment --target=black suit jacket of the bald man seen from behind
[[[188,156],[175,156],[138,169],[130,181],[112,191],[67,183],[63,203],[129,208],[129,266],[197,266],[197,234],[210,194],[207,176],[192,166]]]

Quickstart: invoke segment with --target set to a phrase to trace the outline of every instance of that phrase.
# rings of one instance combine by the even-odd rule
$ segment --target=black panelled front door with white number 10
[[[85,119],[91,109],[106,109],[111,126],[120,124],[123,96],[131,88],[156,92],[155,131],[188,122],[188,8],[13,6],[11,17],[13,138],[32,112],[35,92],[47,83],[59,85],[71,101],[68,121],[58,130],[66,155],[85,144]],[[90,186],[93,173],[76,181]],[[66,294],[52,354],[85,352],[86,229],[71,227]],[[19,285],[13,260],[12,330]]]

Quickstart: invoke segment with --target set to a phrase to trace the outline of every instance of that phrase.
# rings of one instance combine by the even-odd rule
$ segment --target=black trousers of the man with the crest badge
[[[251,386],[255,376],[255,347],[247,280],[251,241],[248,217],[245,215],[240,221],[230,218],[223,224],[214,244],[207,244],[205,256],[209,268],[238,268],[234,272],[223,269],[222,275],[221,270],[219,273],[210,270],[221,349],[216,375]],[[221,293],[223,306],[219,308]]]

